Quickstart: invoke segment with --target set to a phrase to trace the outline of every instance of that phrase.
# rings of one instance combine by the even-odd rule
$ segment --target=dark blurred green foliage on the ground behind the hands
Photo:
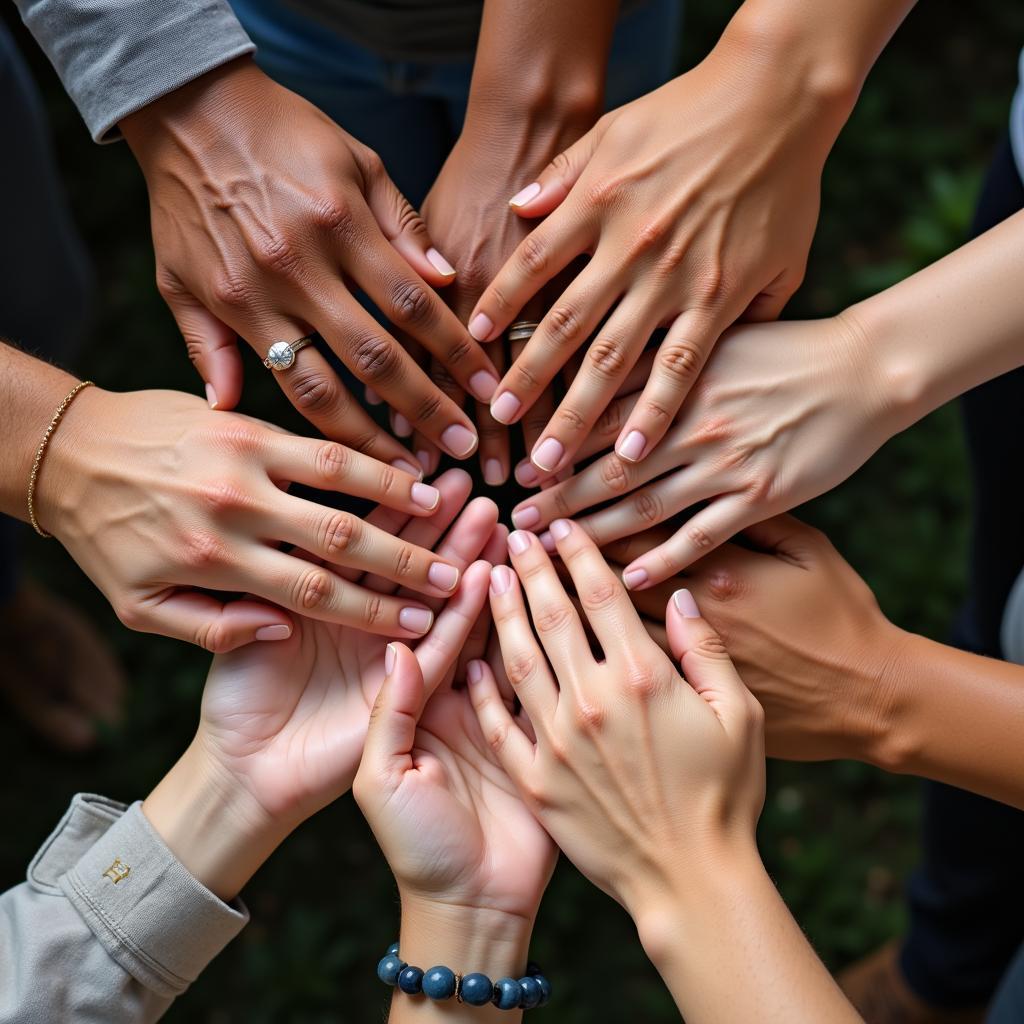
[[[690,0],[689,6],[687,66],[707,52],[735,5]],[[1006,130],[1022,44],[1020,4],[929,0],[910,15],[829,161],[808,280],[790,314],[835,312],[961,243],[981,175]],[[38,56],[34,66],[99,270],[99,323],[78,368],[114,388],[199,390],[153,287],[145,191],[127,148],[92,145],[52,72]],[[102,345],[112,337],[113,351]],[[287,419],[283,404],[266,376],[251,369],[246,411]],[[802,514],[828,531],[892,618],[941,639],[964,589],[967,480],[957,411],[950,407],[896,438]],[[189,737],[207,664],[202,652],[123,630],[56,545],[33,539],[29,555],[33,571],[86,604],[109,632],[133,689],[124,728],[85,759],[55,757],[15,720],[0,721],[0,820],[6,822],[0,887],[24,877],[73,793],[130,801],[147,792]],[[850,763],[771,765],[762,851],[831,967],[899,932],[918,824],[913,780]],[[169,1021],[326,1024],[382,1017],[373,967],[395,934],[397,906],[386,865],[350,799],[301,828],[246,899],[252,924]],[[558,869],[534,953],[555,981],[552,1020],[677,1019],[629,920],[571,866]],[[731,969],[742,966],[723,965]]]

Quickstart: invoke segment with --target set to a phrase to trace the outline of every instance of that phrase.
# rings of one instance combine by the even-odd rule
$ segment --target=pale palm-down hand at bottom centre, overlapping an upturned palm
[[[591,654],[584,622],[537,538],[516,532],[515,573],[493,569],[490,608],[532,734],[500,699],[489,670],[470,693],[529,808],[643,932],[659,896],[678,891],[708,858],[754,849],[764,800],[761,710],[685,591],[668,612],[683,678],[583,530],[558,520],[552,535],[604,659]]]

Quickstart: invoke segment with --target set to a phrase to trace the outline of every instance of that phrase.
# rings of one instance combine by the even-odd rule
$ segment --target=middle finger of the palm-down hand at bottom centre
[[[590,660],[589,653],[586,662],[581,660],[583,652],[589,651],[590,645],[587,643],[583,623],[572,607],[572,601],[565,593],[548,553],[532,534],[518,529],[510,534],[509,553],[515,574],[526,592],[534,629],[555,670],[559,684],[574,682],[580,676],[581,668]],[[504,573],[496,572],[492,579],[492,590],[507,582]],[[494,608],[495,602],[492,600],[492,610]],[[498,621],[497,612],[495,621]],[[515,676],[511,671],[509,679],[515,683]]]

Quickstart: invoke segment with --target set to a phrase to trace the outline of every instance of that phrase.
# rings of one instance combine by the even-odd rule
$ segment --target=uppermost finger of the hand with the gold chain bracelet
[[[265,466],[275,480],[366,498],[411,515],[430,515],[440,503],[437,488],[420,482],[417,474],[386,466],[337,441],[270,434]]]

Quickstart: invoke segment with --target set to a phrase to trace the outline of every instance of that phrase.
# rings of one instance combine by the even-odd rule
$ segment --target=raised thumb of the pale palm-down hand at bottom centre
[[[743,685],[714,627],[700,614],[693,595],[677,590],[665,613],[672,656],[683,676],[728,731],[746,716],[754,697]]]

